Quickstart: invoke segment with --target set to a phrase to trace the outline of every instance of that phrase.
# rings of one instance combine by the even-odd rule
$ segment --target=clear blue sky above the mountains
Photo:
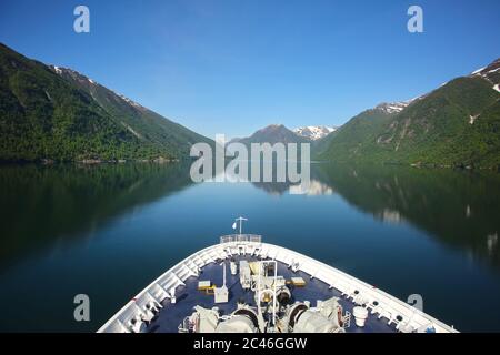
[[[90,9],[90,33],[73,9]],[[424,32],[407,31],[419,4]],[[339,125],[500,57],[500,1],[0,1],[0,41],[202,134]]]

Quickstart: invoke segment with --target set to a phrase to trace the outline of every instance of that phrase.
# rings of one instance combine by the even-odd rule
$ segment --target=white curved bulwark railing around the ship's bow
[[[141,291],[98,332],[130,332],[130,321],[144,314],[146,304],[150,302],[161,304],[167,298],[173,302],[177,287],[184,285],[184,281],[189,277],[198,277],[203,266],[236,254],[250,254],[261,258],[276,260],[293,271],[302,271],[311,278],[320,280],[340,291],[343,296],[352,298],[353,302],[363,300],[362,303],[371,310],[372,314],[377,314],[379,318],[387,318],[389,324],[396,324],[400,331],[416,331],[433,326],[438,333],[457,333],[453,327],[370,284],[298,252],[262,243],[260,235],[252,234],[222,236],[220,244],[206,247],[188,256]]]

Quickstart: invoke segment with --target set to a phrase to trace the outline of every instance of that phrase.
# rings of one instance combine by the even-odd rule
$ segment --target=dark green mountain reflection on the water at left
[[[190,183],[181,164],[1,166],[0,263],[89,232]]]

